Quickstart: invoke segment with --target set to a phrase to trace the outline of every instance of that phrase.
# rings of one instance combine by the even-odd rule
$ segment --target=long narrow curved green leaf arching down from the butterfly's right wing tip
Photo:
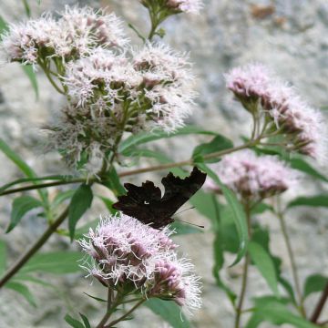
[[[240,238],[240,248],[237,253],[237,258],[235,261],[233,261],[231,266],[235,265],[239,261],[241,261],[242,257],[244,256],[244,254],[247,250],[247,244],[248,244],[248,240],[249,240],[245,212],[241,206],[241,202],[237,199],[234,192],[232,190],[228,189],[220,181],[219,177],[208,166],[206,166],[205,164],[199,163],[198,167],[200,169],[202,169],[204,172],[206,172],[209,175],[209,177],[218,184],[225,199],[227,200],[228,206],[231,208],[232,219],[234,220],[234,223],[235,223],[237,231],[238,231],[238,236]]]

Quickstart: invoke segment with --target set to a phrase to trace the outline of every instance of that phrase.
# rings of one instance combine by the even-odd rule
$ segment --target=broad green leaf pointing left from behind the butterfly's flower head
[[[48,272],[48,273],[72,273],[79,272],[81,268],[78,266],[81,260],[79,251],[51,251],[36,254],[21,269],[21,273],[27,272]]]

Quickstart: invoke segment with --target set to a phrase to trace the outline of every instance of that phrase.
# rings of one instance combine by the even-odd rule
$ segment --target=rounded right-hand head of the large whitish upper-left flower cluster
[[[133,66],[144,84],[146,113],[154,127],[172,131],[183,125],[194,107],[193,75],[184,54],[173,52],[163,44],[147,44],[133,54]]]

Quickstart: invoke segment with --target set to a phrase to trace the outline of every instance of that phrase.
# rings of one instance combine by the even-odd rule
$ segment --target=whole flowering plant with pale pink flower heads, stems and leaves
[[[200,216],[210,219],[206,231],[214,239],[210,265],[218,287],[218,302],[211,306],[220,306],[221,291],[225,292],[235,328],[256,328],[262,322],[304,328],[322,325],[319,317],[328,298],[328,278],[313,274],[302,289],[285,222],[292,208],[327,206],[326,195],[290,202],[285,196],[298,190],[305,178],[327,182],[309,162],[322,164],[326,159],[327,128],[322,112],[307,104],[294,87],[283,83],[268,67],[253,63],[232,68],[224,75],[227,90],[250,115],[248,136],[242,136],[235,146],[217,131],[186,125],[193,110],[201,110],[196,102],[195,76],[189,56],[163,40],[162,23],[172,15],[198,14],[203,4],[200,0],[137,2],[146,8],[150,23],[147,36],[128,25],[140,40],[138,46],[128,39],[125,21],[106,9],[66,6],[56,15],[46,13],[9,25],[0,19],[0,51],[5,65],[15,62],[24,67],[36,90],[35,72],[41,70],[49,87],[62,97],[41,130],[46,156],[58,154],[69,172],[60,174],[58,169],[56,175],[38,176],[5,140],[0,140],[0,150],[26,175],[0,187],[1,197],[23,193],[13,201],[5,232],[16,230],[27,213],[46,220],[46,230],[17,261],[9,266],[0,261],[0,288],[20,292],[36,305],[29,283],[51,285],[36,272],[75,272],[76,277],[85,275],[103,287],[100,292],[107,294],[106,300],[87,295],[107,306],[106,310],[99,307],[103,315],[99,320],[97,313],[95,317],[80,313],[78,320],[76,314],[67,314],[65,321],[70,326],[119,326],[132,319],[131,314],[143,304],[173,327],[188,327],[189,320],[201,326],[200,305],[208,296],[208,282],[201,282],[196,273],[200,270],[198,259],[193,259],[194,266],[181,255],[183,246],[179,249],[175,240],[175,236],[199,233],[200,229],[166,217],[170,209],[161,208],[163,203],[178,208],[176,205],[185,199]],[[193,149],[190,159],[173,161],[165,142],[182,135],[208,139]],[[159,145],[160,151],[149,147],[155,140],[164,145]],[[186,148],[190,149],[188,143]],[[149,165],[147,158],[156,164]],[[170,169],[184,177],[189,166],[208,176],[204,190],[194,196],[200,189],[198,181],[176,177],[162,180],[166,188],[162,198],[151,181],[135,190],[136,186],[127,184],[126,189],[132,191],[129,197],[123,196],[127,190],[121,181],[130,176]],[[205,174],[200,175],[205,179]],[[141,196],[145,196],[142,206],[138,203]],[[96,198],[109,214],[90,221],[87,210],[96,208]],[[125,200],[122,208],[129,207],[128,214],[135,215],[115,210],[117,199]],[[149,224],[142,221],[147,215]],[[279,221],[292,282],[284,276],[282,260],[271,250],[271,231],[262,224],[262,219],[270,216]],[[67,227],[63,224],[66,220]],[[151,220],[173,223],[154,225]],[[52,235],[57,236],[58,250],[63,239],[65,247],[71,247],[68,237],[79,251],[38,254]],[[5,259],[3,249],[0,247]],[[224,264],[231,253],[235,260],[230,267],[242,266],[241,286],[222,275],[230,270]],[[270,294],[256,297],[253,305],[245,308],[249,302],[246,294],[252,292],[247,291],[249,272],[254,267]],[[203,295],[201,284],[205,286]],[[306,302],[313,292],[322,292],[314,306]],[[216,327],[219,319],[214,322]]]

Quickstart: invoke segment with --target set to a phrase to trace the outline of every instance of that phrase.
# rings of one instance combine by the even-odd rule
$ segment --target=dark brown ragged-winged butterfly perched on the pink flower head
[[[194,167],[190,176],[185,179],[175,177],[171,172],[161,180],[165,191],[162,197],[159,187],[146,181],[141,187],[125,183],[128,190],[125,196],[119,196],[113,208],[149,224],[155,229],[161,229],[173,222],[172,215],[190,199],[204,184],[206,174]]]

